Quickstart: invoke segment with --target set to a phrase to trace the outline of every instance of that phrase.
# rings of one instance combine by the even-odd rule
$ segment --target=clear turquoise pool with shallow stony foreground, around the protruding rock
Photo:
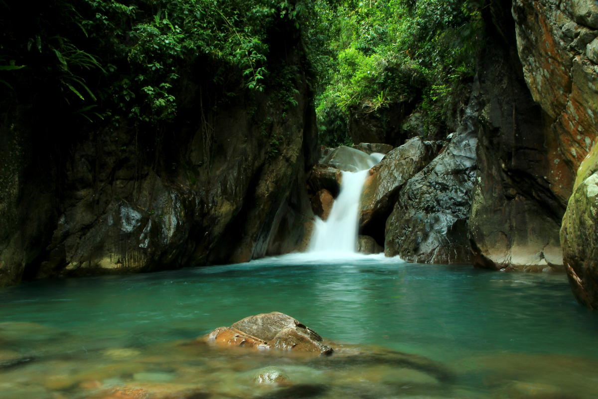
[[[274,310],[361,354],[194,341]],[[597,338],[565,275],[288,255],[0,290],[0,397],[596,398]],[[256,385],[269,366],[288,380]]]

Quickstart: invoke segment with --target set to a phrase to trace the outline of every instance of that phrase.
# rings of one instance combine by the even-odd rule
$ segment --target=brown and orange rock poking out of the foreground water
[[[332,354],[332,348],[322,343],[322,337],[315,331],[280,312],[261,313],[237,321],[231,327],[218,327],[208,334],[206,341],[258,350]]]

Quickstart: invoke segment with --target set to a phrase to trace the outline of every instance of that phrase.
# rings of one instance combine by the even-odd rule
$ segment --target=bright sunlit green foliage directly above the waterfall
[[[322,144],[350,144],[349,111],[365,103],[376,111],[417,98],[424,129],[442,123],[451,92],[474,74],[482,6],[475,0],[316,2],[310,42],[326,51],[313,57]]]

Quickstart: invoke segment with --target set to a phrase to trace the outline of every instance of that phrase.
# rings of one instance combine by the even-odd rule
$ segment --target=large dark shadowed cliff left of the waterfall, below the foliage
[[[299,32],[287,25],[276,27],[268,62],[295,71],[283,77],[292,101],[273,80],[253,95],[239,85],[214,107],[222,89],[201,59],[181,77],[176,120],[155,129],[126,118],[69,123],[45,93],[4,87],[0,285],[303,248],[317,130]]]

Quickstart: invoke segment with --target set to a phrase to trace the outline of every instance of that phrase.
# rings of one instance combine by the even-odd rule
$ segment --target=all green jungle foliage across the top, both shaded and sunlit
[[[44,87],[91,121],[115,115],[163,124],[176,115],[173,89],[193,63],[206,65],[221,99],[276,81],[268,65],[276,20],[303,31],[321,141],[349,142],[347,118],[415,98],[426,132],[472,76],[482,29],[471,0],[49,0],[35,17],[0,0],[0,90]],[[241,81],[239,81],[239,77]]]

